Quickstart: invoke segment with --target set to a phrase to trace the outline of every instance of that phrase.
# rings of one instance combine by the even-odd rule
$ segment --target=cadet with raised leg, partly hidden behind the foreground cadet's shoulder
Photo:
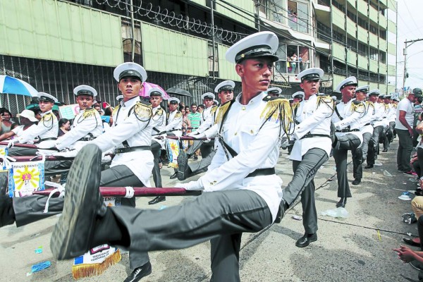
[[[233,88],[235,87],[235,82],[232,80],[225,80],[219,85],[217,85],[214,88],[214,92],[217,93],[217,96],[221,100],[221,105],[225,104],[226,102],[230,102],[233,100]],[[269,93],[269,92],[268,92]],[[212,116],[213,118],[213,124],[211,128],[205,130],[202,133],[193,135],[196,138],[212,138],[215,137],[219,127],[216,124],[216,116],[219,113],[219,107],[214,111],[214,114]],[[214,141],[214,149],[210,154],[207,155],[207,157],[202,157],[201,161],[197,161],[192,164],[188,164],[188,154],[185,152],[182,152],[178,157],[178,180],[185,180],[186,178],[190,176],[195,176],[198,173],[202,173],[204,171],[207,171],[207,168],[212,163],[212,159],[214,157],[214,154],[216,153],[216,140]]]

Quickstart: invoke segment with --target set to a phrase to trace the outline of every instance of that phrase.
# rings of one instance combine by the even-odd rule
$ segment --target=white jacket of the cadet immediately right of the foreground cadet
[[[301,161],[302,156],[309,149],[324,149],[326,154],[331,154],[332,142],[331,138],[331,115],[333,113],[333,100],[331,97],[321,97],[326,99],[318,104],[317,95],[314,94],[308,100],[302,100],[298,105],[295,114],[295,121],[299,124],[295,125],[293,137],[296,139],[294,147],[290,154],[290,159]],[[303,138],[307,133],[328,135],[328,137],[312,137]]]

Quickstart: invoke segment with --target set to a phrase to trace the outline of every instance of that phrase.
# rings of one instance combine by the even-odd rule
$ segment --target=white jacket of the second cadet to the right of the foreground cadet
[[[350,126],[350,130],[358,130],[358,131],[350,131],[350,132],[336,132],[336,136],[343,136],[348,133],[356,135],[360,139],[360,146],[363,142],[363,135],[360,132],[361,123],[360,118],[364,114],[364,106],[362,107],[363,112],[355,111],[355,106],[353,106],[353,101],[355,99],[351,99],[347,103],[339,102],[336,104],[336,109],[338,109],[338,113],[343,118],[339,118],[338,114],[335,112],[332,115],[332,122],[335,125],[336,130],[346,130],[348,126]]]

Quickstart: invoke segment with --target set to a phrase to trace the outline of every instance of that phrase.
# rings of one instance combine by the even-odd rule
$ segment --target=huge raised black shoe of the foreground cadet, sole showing
[[[69,171],[62,216],[51,235],[50,249],[56,259],[72,259],[90,250],[96,220],[106,214],[100,195],[102,151],[84,146]]]

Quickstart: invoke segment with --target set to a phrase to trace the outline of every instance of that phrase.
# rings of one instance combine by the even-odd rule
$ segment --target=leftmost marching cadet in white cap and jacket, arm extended
[[[48,149],[54,147],[54,142],[57,140],[57,134],[59,133],[59,122],[51,110],[54,103],[57,102],[57,99],[51,94],[44,92],[38,92],[37,96],[39,109],[42,111],[42,118],[34,130],[25,130],[23,134],[18,137],[17,142],[32,143],[34,139],[38,137],[39,139],[35,145],[37,145],[39,149]],[[11,142],[13,143],[14,140]],[[45,150],[42,151],[51,152]],[[8,155],[35,156],[37,152],[38,149],[12,147],[9,149]]]

